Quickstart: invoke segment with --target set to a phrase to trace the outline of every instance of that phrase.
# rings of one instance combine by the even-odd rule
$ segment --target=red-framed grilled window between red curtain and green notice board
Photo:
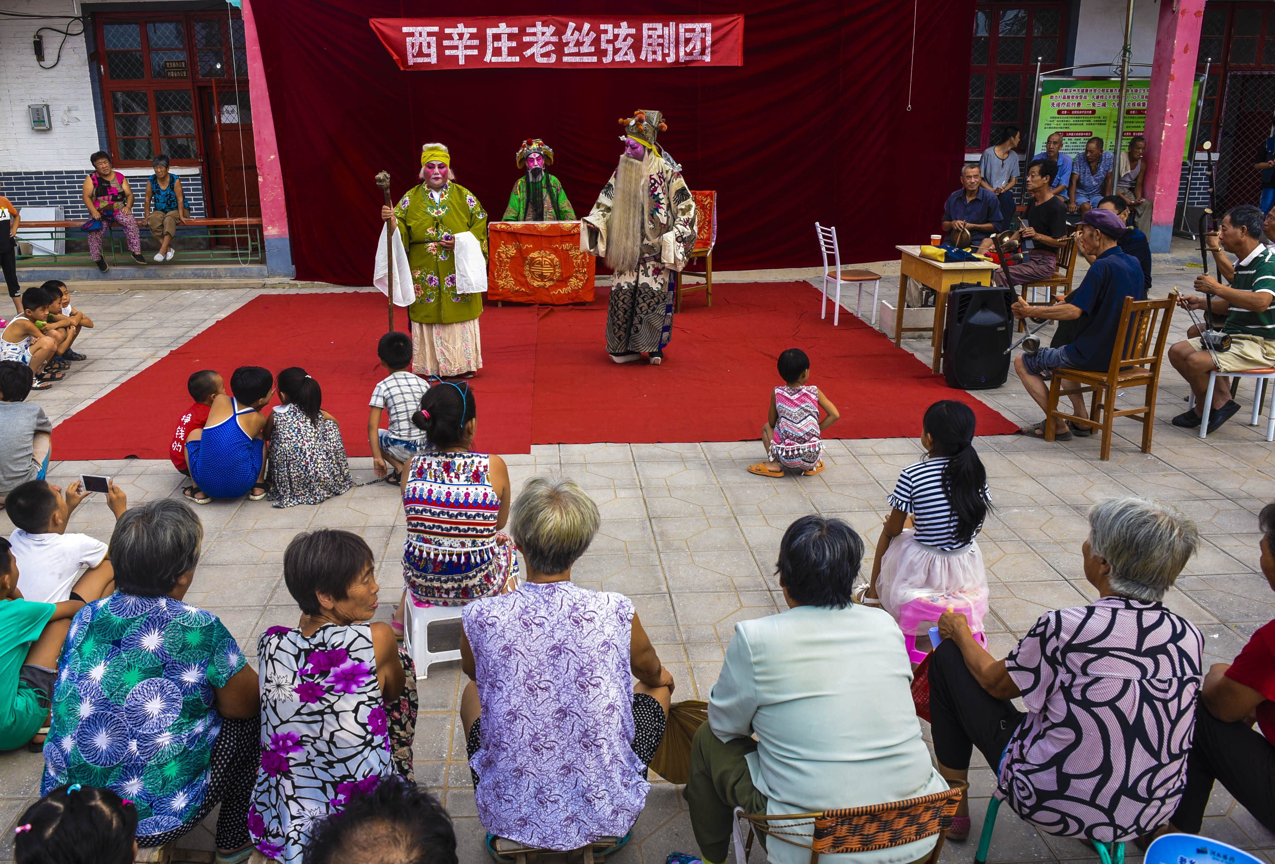
[[[1062,65],[1067,47],[1066,3],[979,3],[974,10],[965,149],[982,150],[1006,125],[1026,131],[1031,120],[1035,64]],[[1026,134],[1023,140],[1026,141]],[[1026,144],[1020,145],[1020,150]]]

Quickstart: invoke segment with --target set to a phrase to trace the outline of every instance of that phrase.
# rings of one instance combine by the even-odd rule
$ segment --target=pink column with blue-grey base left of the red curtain
[[[265,237],[265,269],[272,277],[295,277],[292,245],[288,242],[288,209],[283,200],[283,171],[274,139],[274,113],[261,64],[252,6],[244,0],[244,40],[247,48],[247,89],[252,98],[252,145],[256,149],[256,181],[261,199],[261,233]]]

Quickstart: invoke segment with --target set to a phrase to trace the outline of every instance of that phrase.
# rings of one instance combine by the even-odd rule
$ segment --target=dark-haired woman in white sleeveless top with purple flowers
[[[247,827],[268,859],[301,861],[316,823],[381,777],[412,779],[416,670],[376,614],[372,551],[357,534],[298,534],[283,580],[296,628],[258,641],[261,771]]]

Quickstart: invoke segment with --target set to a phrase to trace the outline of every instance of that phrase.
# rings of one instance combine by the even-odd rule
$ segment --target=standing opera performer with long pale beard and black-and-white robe
[[[668,126],[659,111],[621,119],[625,152],[611,180],[580,219],[580,248],[611,268],[607,353],[617,363],[664,359],[673,333],[673,271],[695,245],[695,199],[682,166],[655,136]]]

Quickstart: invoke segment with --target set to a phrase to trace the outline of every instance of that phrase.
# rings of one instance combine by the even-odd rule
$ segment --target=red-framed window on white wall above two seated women
[[[196,166],[204,136],[221,117],[203,117],[203,92],[251,122],[244,20],[226,13],[175,11],[94,17],[111,155],[121,167],[149,166],[159,153],[173,166]],[[218,92],[221,89],[222,92]],[[228,93],[228,96],[227,96]],[[238,94],[242,94],[240,97]]]

